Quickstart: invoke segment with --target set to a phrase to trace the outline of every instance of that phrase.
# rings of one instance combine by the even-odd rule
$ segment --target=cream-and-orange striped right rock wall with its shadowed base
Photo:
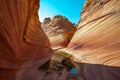
[[[118,0],[87,0],[84,5],[78,29],[65,51],[84,64],[85,80],[120,79],[119,5]]]

